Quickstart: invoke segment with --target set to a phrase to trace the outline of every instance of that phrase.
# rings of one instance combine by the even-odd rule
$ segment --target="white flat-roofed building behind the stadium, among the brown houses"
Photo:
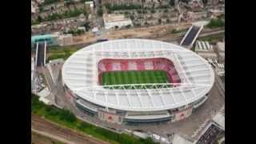
[[[122,26],[132,26],[130,18],[125,18],[124,14],[103,14],[105,29],[118,28]]]

